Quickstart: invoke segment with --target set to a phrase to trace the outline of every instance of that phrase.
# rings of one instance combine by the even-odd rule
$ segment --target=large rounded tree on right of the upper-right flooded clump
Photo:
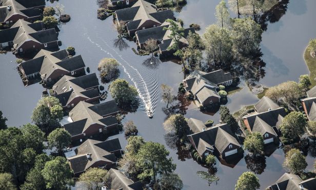
[[[260,49],[261,26],[251,18],[232,19],[232,39],[234,49],[244,56],[252,56]]]

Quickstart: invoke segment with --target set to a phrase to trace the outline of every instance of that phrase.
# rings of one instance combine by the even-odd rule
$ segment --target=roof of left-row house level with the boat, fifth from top
[[[109,126],[109,124],[113,125],[117,123],[114,116],[105,118],[103,116],[118,111],[119,109],[114,100],[97,105],[81,101],[69,112],[73,122],[65,124],[64,127],[72,136],[75,136],[84,133],[92,124],[105,127]]]

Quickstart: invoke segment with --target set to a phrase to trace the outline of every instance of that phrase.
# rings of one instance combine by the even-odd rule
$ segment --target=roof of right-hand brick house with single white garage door
[[[262,113],[246,115],[243,118],[247,119],[252,132],[260,132],[262,135],[268,132],[276,135],[272,127],[279,129],[285,115],[285,109],[280,107]]]

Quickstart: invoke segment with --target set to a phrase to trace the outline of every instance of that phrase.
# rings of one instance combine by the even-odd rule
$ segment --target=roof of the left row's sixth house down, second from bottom
[[[98,161],[114,163],[116,158],[112,152],[121,149],[118,138],[106,141],[87,139],[76,149],[76,156],[67,159],[74,174],[76,174],[87,170]],[[90,158],[87,157],[87,154],[90,155]]]

